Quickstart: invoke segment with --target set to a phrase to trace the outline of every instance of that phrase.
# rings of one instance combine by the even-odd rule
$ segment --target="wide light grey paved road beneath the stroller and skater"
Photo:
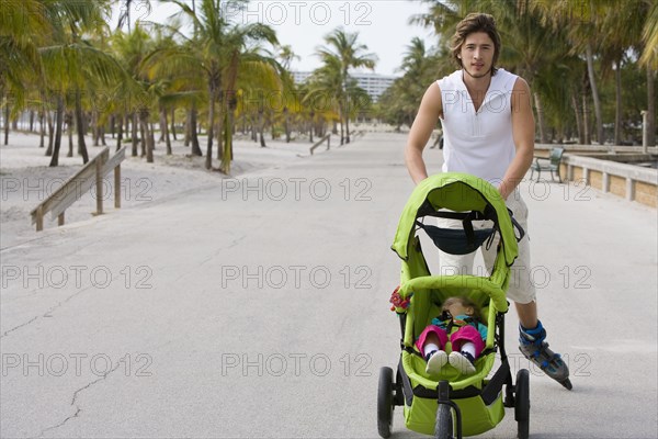
[[[378,368],[398,356],[404,142],[368,135],[2,250],[1,436],[376,437]],[[522,192],[575,386],[533,373],[532,437],[656,438],[656,211],[577,185]],[[508,415],[483,437],[514,437]]]

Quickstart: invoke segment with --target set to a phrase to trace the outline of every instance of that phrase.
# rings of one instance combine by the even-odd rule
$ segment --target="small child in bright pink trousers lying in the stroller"
[[[427,361],[426,372],[436,374],[450,363],[465,375],[475,373],[475,360],[485,349],[487,327],[478,306],[466,297],[449,297],[443,302],[441,316],[418,337],[416,346]],[[456,328],[456,329],[455,329]],[[452,352],[445,352],[450,339]]]

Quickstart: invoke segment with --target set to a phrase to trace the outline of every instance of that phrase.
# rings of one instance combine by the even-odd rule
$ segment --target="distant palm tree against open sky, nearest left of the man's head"
[[[344,116],[345,143],[348,144],[350,143],[350,94],[347,92],[348,87],[350,87],[349,71],[352,68],[360,67],[374,70],[375,64],[377,63],[377,56],[365,53],[367,46],[360,44],[358,40],[358,32],[347,33],[342,27],[338,27],[325,36],[325,43],[327,43],[328,46],[320,47],[317,50],[320,59],[322,59],[326,65],[333,65],[337,60],[340,63],[338,74],[341,82],[340,88],[342,90],[342,93],[340,94],[341,116]],[[341,145],[342,143],[341,136]]]

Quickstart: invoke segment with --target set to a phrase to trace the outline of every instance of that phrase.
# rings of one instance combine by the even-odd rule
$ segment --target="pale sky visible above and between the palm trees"
[[[350,33],[358,32],[359,41],[367,46],[367,52],[377,56],[375,72],[400,75],[396,71],[401,63],[406,46],[418,36],[426,41],[426,47],[436,44],[436,37],[429,29],[408,24],[411,15],[423,13],[427,5],[411,0],[252,0],[246,11],[238,11],[226,3],[226,14],[236,23],[262,22],[276,31],[282,45],[290,45],[299,59],[293,60],[292,70],[310,71],[320,66],[315,56],[316,48],[325,45],[324,36],[342,26]],[[179,11],[174,4],[151,0],[152,10],[139,0],[131,9],[131,18],[164,22]],[[116,25],[118,8],[115,8],[113,22]]]

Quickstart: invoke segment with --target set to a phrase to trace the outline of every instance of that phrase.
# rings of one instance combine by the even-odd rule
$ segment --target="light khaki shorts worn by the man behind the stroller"
[[[511,279],[507,292],[508,299],[518,303],[530,303],[536,299],[535,286],[532,283],[532,271],[530,264],[530,235],[527,232],[527,206],[521,198],[519,191],[510,194],[506,202],[507,206],[513,212],[514,219],[519,222],[525,235],[519,243],[519,257],[511,267]],[[439,227],[462,228],[462,222],[455,219],[439,218]],[[491,222],[474,222],[474,228],[491,227]],[[487,270],[491,270],[496,260],[496,248],[500,240],[500,234],[496,234],[494,243],[487,249],[487,243],[483,244],[479,250],[483,252],[483,259]],[[478,250],[468,255],[450,255],[439,250],[439,270],[441,275],[450,274],[476,274],[488,277],[487,273],[474,273],[475,255]]]

